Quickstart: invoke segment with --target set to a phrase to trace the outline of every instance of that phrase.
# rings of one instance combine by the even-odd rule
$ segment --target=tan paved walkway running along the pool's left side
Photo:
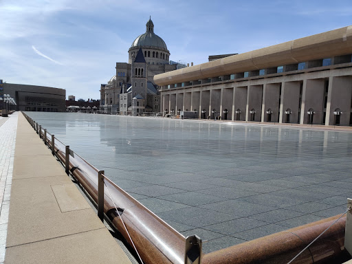
[[[10,118],[0,127],[12,137],[17,115],[13,117],[14,124]],[[13,159],[5,263],[131,263],[21,113],[17,126],[15,151],[5,151]],[[10,179],[8,163],[3,171]],[[6,186],[3,197],[8,201]],[[1,223],[3,215],[7,219],[4,206],[9,206],[4,202]]]

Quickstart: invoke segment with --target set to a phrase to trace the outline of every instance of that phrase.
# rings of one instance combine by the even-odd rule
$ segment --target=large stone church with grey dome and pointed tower
[[[100,113],[160,112],[159,87],[153,81],[154,75],[186,67],[169,61],[169,57],[165,41],[154,33],[154,23],[149,18],[146,32],[137,36],[129,48],[129,63],[116,63],[115,76],[100,86]]]

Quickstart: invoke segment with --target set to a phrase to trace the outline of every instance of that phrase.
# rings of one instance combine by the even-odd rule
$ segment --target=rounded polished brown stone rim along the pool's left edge
[[[23,115],[38,131],[39,124],[25,113]],[[40,135],[46,133],[46,137],[41,137],[45,144],[54,150],[54,155],[64,164],[67,173],[74,176],[97,206],[99,197],[103,197],[104,215],[130,245],[135,245],[135,250],[144,263],[190,263],[186,248],[199,253],[199,256],[192,263],[200,263],[201,241],[199,238],[198,240],[195,239],[197,236],[188,236],[186,239],[168,223],[143,206],[142,203],[105,177],[98,168],[89,164],[83,157],[71,151],[69,146],[65,146],[54,135],[45,131],[41,127],[39,132]],[[54,140],[54,144],[52,144],[52,140]],[[105,192],[98,192],[99,174],[104,179],[104,186],[108,188],[109,195]],[[118,211],[116,211],[116,208]],[[98,208],[99,210],[101,211],[101,208]],[[194,241],[199,241],[199,243],[195,245]],[[186,243],[193,243],[192,247],[189,247]],[[196,246],[197,250],[193,246]],[[194,255],[192,255],[192,258],[194,260]]]

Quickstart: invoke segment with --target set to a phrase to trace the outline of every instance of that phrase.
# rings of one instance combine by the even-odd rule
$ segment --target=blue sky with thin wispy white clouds
[[[150,15],[170,60],[199,64],[352,25],[352,2],[0,0],[0,79],[98,99]]]

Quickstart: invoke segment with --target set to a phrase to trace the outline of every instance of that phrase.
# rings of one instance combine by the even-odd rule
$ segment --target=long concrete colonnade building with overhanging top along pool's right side
[[[352,26],[154,76],[164,114],[352,124]]]

